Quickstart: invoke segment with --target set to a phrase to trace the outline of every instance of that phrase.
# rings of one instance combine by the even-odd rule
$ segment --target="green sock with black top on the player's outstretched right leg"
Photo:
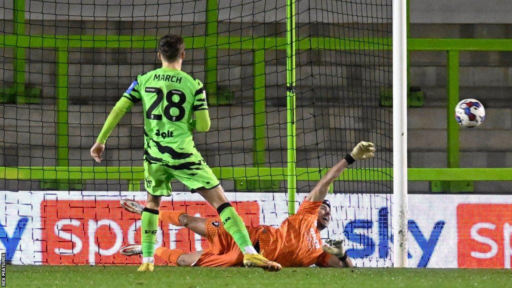
[[[258,254],[252,246],[249,232],[245,227],[244,221],[238,216],[237,211],[229,202],[221,204],[217,208],[224,229],[231,234],[243,254]]]

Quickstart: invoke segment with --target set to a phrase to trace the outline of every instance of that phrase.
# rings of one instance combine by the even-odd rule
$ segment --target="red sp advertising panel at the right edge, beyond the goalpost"
[[[458,266],[510,268],[512,204],[457,205]]]

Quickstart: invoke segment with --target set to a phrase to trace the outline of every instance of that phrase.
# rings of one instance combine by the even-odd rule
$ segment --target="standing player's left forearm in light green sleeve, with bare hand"
[[[105,142],[106,138],[109,137],[112,130],[119,123],[119,120],[126,114],[126,112],[132,109],[134,102],[131,100],[121,97],[119,101],[117,101],[116,106],[112,109],[109,114],[109,117],[106,118],[105,124],[99,133],[98,139],[96,143],[91,148],[91,156],[96,160],[96,162],[101,162],[101,153],[105,150]]]

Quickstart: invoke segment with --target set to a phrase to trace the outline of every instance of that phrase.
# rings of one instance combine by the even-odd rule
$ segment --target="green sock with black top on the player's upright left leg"
[[[158,210],[144,208],[141,219],[141,244],[143,262],[153,262],[158,231]],[[151,257],[151,259],[147,258]]]

